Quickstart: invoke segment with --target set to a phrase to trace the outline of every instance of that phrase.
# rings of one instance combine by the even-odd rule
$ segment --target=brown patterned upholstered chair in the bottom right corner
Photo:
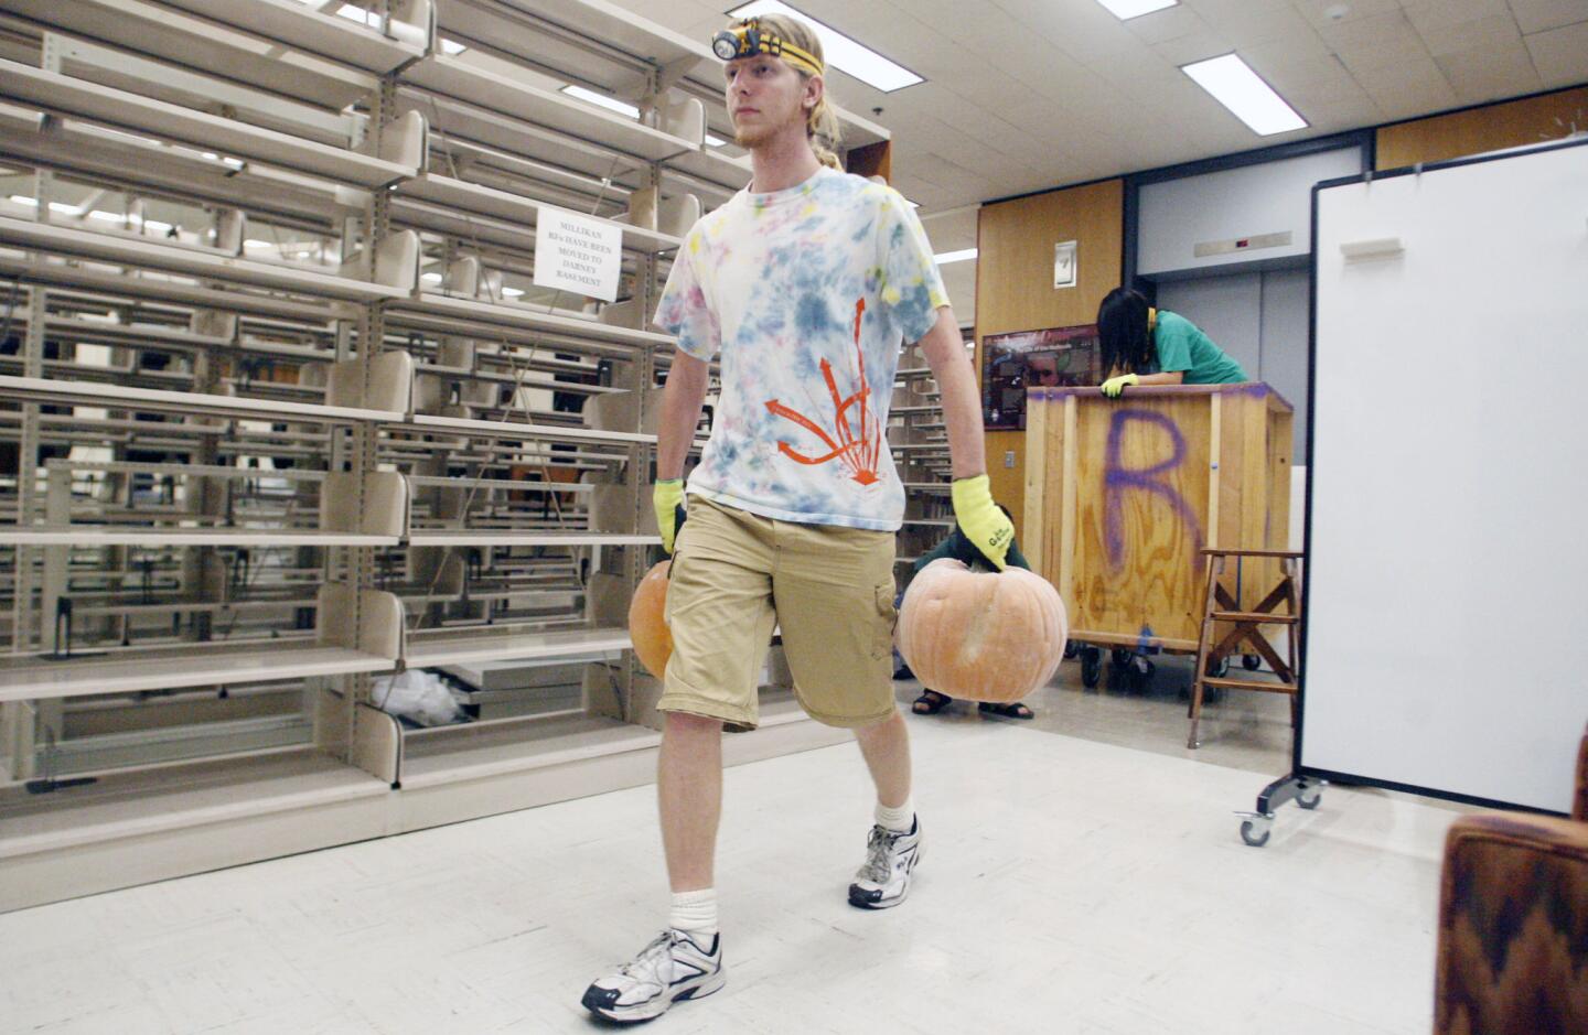
[[[1571,819],[1463,816],[1445,840],[1436,1035],[1588,1032],[1588,733]]]

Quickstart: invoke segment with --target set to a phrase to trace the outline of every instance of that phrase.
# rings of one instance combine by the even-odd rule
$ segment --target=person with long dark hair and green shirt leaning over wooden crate
[[[1235,384],[1250,381],[1240,364],[1202,330],[1169,310],[1147,305],[1140,292],[1115,287],[1097,306],[1102,394],[1115,398],[1132,384]]]

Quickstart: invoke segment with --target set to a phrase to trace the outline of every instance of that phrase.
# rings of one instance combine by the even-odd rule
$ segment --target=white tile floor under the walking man
[[[912,729],[910,902],[845,903],[853,746],[730,770],[729,983],[648,1030],[1429,1030],[1450,810],[1331,787],[1251,849],[1231,810],[1272,771]],[[0,916],[0,1030],[594,1030],[586,983],[661,925],[659,852],[646,787]]]

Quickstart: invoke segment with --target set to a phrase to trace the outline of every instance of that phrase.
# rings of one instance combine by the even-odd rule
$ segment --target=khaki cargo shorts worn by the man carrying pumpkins
[[[894,713],[894,533],[807,525],[689,497],[667,584],[673,654],[657,708],[754,729],[772,629],[810,718]]]

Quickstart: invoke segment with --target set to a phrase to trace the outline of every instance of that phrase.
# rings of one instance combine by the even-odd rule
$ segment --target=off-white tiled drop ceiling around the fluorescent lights
[[[1096,0],[792,2],[926,76],[829,87],[892,133],[939,251],[975,244],[956,210],[988,198],[1588,83],[1588,0],[1180,0],[1124,22]],[[699,40],[730,6],[618,3]],[[1231,51],[1309,127],[1258,137],[1180,71]]]

